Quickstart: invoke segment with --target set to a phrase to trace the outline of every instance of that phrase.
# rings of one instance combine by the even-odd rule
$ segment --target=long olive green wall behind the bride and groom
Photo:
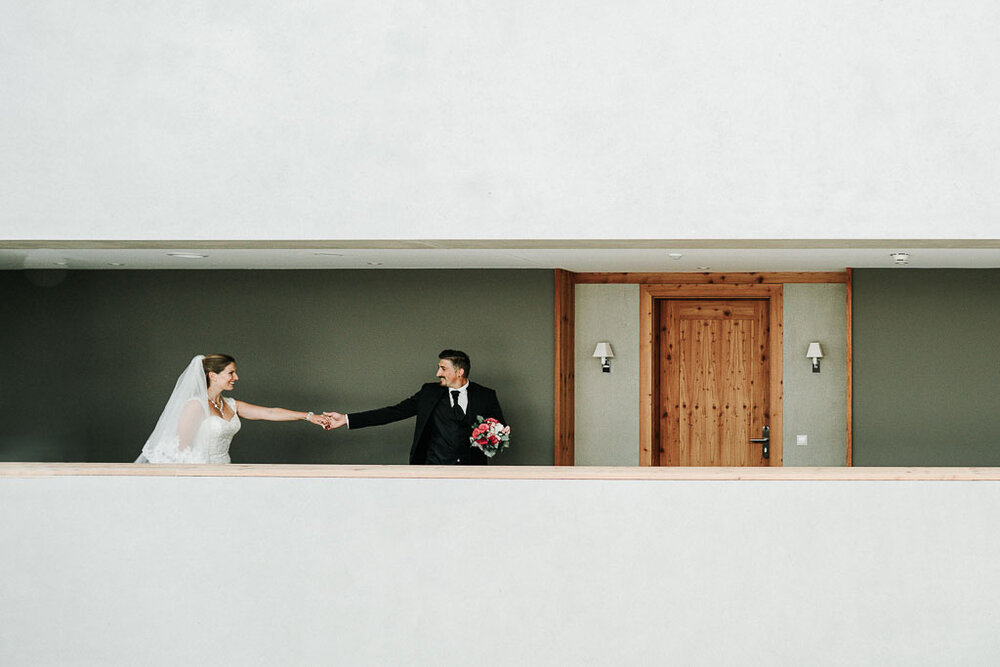
[[[553,460],[551,271],[4,271],[0,302],[0,460],[133,460],[197,353],[236,357],[242,400],[353,411],[433,381],[445,347],[497,390],[496,462]],[[412,433],[244,421],[232,457],[406,463]]]

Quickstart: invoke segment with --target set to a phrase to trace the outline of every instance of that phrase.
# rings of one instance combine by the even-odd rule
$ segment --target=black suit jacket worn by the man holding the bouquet
[[[413,444],[410,446],[410,463],[425,463],[427,459],[428,426],[434,408],[441,400],[449,402],[449,389],[442,387],[436,382],[428,382],[420,388],[420,391],[413,396],[400,401],[396,405],[390,405],[377,410],[366,410],[364,412],[352,412],[347,415],[351,429],[365,428],[366,426],[381,426],[391,422],[401,421],[416,415],[417,424],[413,428]],[[478,417],[484,419],[493,417],[501,424],[506,424],[503,418],[503,411],[500,410],[500,402],[497,394],[489,387],[470,382],[466,390],[469,396],[469,406],[465,411],[464,426],[460,442],[452,443],[456,451],[461,452],[456,463],[463,465],[486,465],[486,455],[478,447],[469,444],[469,436],[472,428],[478,421]]]

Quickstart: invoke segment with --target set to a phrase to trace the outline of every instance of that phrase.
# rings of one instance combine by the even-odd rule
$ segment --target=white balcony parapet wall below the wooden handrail
[[[0,478],[0,663],[996,664],[1000,482]]]

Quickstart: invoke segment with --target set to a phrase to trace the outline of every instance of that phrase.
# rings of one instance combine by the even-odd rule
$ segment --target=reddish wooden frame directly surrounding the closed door
[[[655,465],[659,413],[656,408],[657,301],[673,299],[760,299],[768,302],[770,357],[771,466],[782,461],[783,285],[781,284],[642,284],[639,286],[639,465]]]

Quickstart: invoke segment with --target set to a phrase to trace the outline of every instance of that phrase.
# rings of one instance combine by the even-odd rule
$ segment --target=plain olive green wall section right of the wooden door
[[[1000,465],[1000,270],[854,272],[854,465]]]

